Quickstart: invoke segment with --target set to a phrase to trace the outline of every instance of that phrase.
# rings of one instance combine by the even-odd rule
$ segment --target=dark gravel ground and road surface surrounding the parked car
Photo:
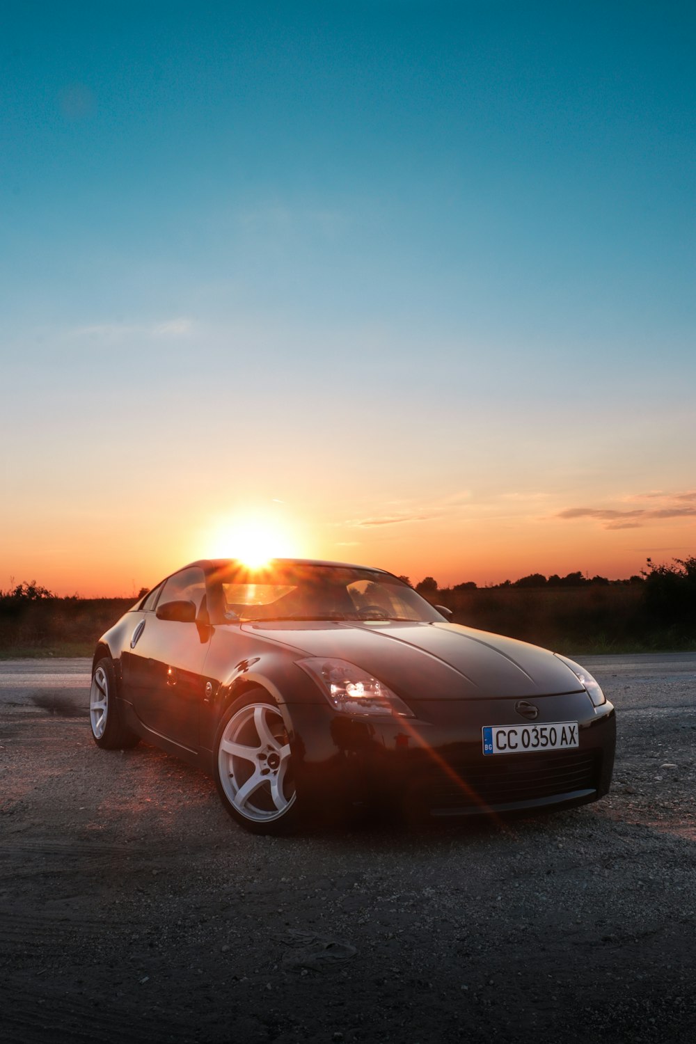
[[[603,801],[289,839],[98,750],[88,661],[0,664],[3,1039],[693,1044],[696,655],[584,663],[617,706]]]

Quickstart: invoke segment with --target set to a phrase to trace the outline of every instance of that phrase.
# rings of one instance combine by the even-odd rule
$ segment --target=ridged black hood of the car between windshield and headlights
[[[347,660],[415,699],[584,691],[553,652],[456,623],[259,621],[242,630],[311,657]]]

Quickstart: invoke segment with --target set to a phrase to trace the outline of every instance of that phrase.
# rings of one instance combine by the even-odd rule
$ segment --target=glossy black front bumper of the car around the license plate
[[[538,723],[570,719],[567,709],[562,718],[557,713],[565,697],[547,698]],[[462,725],[438,721],[445,712],[434,707],[425,708],[426,720],[425,705],[422,717],[371,720],[316,705],[288,707],[298,793],[308,803],[401,807],[419,816],[552,810],[607,792],[616,746],[610,704],[577,708],[578,748],[484,756],[482,723],[511,720],[507,702],[496,704],[467,703]]]

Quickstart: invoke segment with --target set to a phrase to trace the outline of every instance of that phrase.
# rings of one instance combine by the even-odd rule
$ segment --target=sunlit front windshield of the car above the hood
[[[440,620],[421,595],[388,573],[346,566],[231,565],[216,576],[227,620]]]

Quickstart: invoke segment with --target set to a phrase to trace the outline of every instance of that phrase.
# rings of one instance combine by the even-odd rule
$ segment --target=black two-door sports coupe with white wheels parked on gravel
[[[192,761],[262,833],[321,804],[459,815],[606,793],[615,714],[592,675],[448,614],[381,569],[195,562],[99,640],[95,742]]]

